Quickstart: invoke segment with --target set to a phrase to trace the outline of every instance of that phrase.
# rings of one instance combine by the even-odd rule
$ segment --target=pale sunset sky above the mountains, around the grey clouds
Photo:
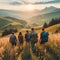
[[[56,3],[48,3],[50,1],[54,1]],[[34,6],[32,6],[33,9],[44,9],[45,7],[49,7],[49,6],[54,6],[54,7],[57,7],[57,8],[60,8],[60,0],[0,0],[0,9],[7,9],[7,10],[26,10],[28,9],[29,6],[26,6],[26,5],[13,5],[13,4],[10,4],[12,2],[32,2],[32,3],[35,3],[35,2],[47,2],[46,4],[35,4]],[[59,2],[59,3],[57,3]],[[27,8],[26,8],[27,7]],[[30,7],[31,8],[31,7]],[[30,9],[29,8],[29,9]]]

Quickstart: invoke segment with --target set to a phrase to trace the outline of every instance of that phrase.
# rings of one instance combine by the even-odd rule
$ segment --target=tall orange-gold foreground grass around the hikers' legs
[[[25,45],[25,43],[24,43]],[[50,60],[56,60],[56,58],[60,58],[60,33],[57,34],[50,34],[49,35],[49,41],[46,43],[46,47],[48,48],[48,58]],[[37,49],[40,49],[40,43],[37,43]],[[10,51],[12,50],[12,46],[9,43],[9,36],[0,38],[0,60],[9,60],[10,59]],[[29,49],[25,48],[23,51],[23,55],[21,55],[19,50],[19,43],[17,43],[17,46],[14,48],[14,54],[15,55],[14,60],[24,60],[25,58],[30,60],[38,60],[38,58],[32,53],[32,51],[29,51]],[[25,57],[25,58],[24,58]],[[23,58],[23,59],[21,59]]]

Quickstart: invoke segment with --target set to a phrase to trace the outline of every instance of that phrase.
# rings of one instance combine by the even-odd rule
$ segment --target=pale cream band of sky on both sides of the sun
[[[22,4],[22,5],[9,5],[9,4],[0,4],[0,9],[5,10],[16,10],[16,11],[28,11],[29,4]],[[52,3],[52,4],[35,4],[32,5],[33,10],[42,10],[46,7],[54,6],[60,8],[60,3]]]

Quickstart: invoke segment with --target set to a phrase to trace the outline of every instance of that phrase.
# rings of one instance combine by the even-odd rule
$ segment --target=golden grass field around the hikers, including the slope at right
[[[60,33],[53,33],[57,28],[60,27],[60,24],[57,24],[55,26],[49,27],[46,30],[50,32],[49,34],[49,41],[46,43],[46,47],[48,48],[47,56],[45,56],[45,60],[60,60]],[[23,35],[25,34],[25,31],[23,30]],[[38,36],[40,35],[41,30],[36,31],[38,33]],[[52,34],[53,33],[53,34]],[[18,33],[15,33],[15,35],[18,37]],[[35,54],[32,53],[31,49],[29,51],[29,48],[26,46],[26,42],[24,40],[24,50],[20,52],[19,50],[19,43],[17,40],[17,46],[14,48],[14,53],[12,52],[11,44],[9,43],[9,37],[0,37],[0,60],[9,60],[9,56],[15,55],[14,60],[39,60]],[[40,38],[40,37],[39,37]],[[38,38],[37,43],[37,49],[40,49]],[[18,39],[18,38],[17,38]],[[11,52],[11,53],[10,53]],[[18,54],[17,54],[18,53]],[[30,58],[28,58],[28,55]],[[22,57],[24,59],[22,59]],[[46,59],[47,58],[47,59]]]

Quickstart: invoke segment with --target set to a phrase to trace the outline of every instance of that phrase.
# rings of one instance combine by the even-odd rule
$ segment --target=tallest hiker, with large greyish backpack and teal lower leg
[[[32,47],[32,51],[33,53],[35,52],[35,45],[38,41],[38,35],[35,32],[34,28],[31,29],[31,33],[30,33],[30,40],[31,40],[31,47]]]

